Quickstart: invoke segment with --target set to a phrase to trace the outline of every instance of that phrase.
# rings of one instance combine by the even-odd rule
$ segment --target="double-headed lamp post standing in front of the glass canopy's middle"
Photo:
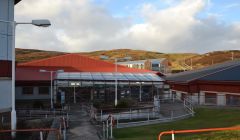
[[[105,55],[101,55],[100,56],[100,58],[101,59],[104,59],[104,60],[108,60],[109,59],[109,57],[108,56],[105,56]],[[130,56],[128,56],[128,57],[124,57],[124,58],[114,58],[114,60],[115,60],[115,101],[114,101],[114,105],[115,106],[117,106],[117,104],[118,104],[118,99],[117,99],[117,76],[116,76],[116,74],[117,74],[117,71],[118,71],[118,69],[117,69],[117,62],[118,62],[118,60],[131,60],[132,59],[132,57],[130,57]]]

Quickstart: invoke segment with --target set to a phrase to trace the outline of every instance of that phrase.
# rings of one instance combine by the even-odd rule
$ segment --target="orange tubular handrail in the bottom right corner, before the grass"
[[[167,134],[182,134],[182,133],[200,133],[200,132],[211,132],[211,131],[227,131],[227,130],[240,130],[240,127],[225,127],[225,128],[205,128],[205,129],[190,129],[190,130],[171,130],[163,131],[158,135],[158,140],[161,140],[163,135]]]

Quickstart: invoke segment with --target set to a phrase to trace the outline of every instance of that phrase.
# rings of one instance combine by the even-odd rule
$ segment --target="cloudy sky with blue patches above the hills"
[[[23,0],[16,47],[63,52],[138,49],[163,53],[240,50],[239,0]]]

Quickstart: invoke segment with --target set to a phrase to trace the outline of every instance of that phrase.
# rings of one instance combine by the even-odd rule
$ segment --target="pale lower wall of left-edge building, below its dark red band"
[[[0,112],[12,107],[11,80],[0,80]]]

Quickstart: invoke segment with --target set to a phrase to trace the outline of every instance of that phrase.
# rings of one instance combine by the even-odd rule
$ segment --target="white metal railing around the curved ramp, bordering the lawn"
[[[194,115],[193,106],[187,99],[184,101],[161,99],[159,102],[161,103],[160,107],[149,106],[99,110],[93,108],[90,114],[99,122],[106,120],[109,114],[111,114],[117,128],[170,122]]]

